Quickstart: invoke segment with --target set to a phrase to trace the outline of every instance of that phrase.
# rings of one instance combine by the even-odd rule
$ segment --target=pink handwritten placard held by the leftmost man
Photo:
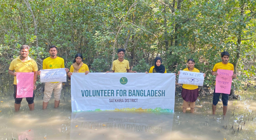
[[[33,97],[34,72],[17,72],[16,98]]]

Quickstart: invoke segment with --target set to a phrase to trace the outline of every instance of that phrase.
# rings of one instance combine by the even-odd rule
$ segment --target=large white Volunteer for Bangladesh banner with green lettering
[[[72,112],[174,112],[174,73],[73,73]]]

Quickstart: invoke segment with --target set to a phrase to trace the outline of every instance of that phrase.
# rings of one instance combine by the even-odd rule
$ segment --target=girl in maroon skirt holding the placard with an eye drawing
[[[191,71],[191,72],[200,72],[198,69],[194,68],[195,60],[188,59],[188,68],[184,69],[183,71]],[[180,71],[178,71],[178,75]],[[206,74],[203,75],[206,77]],[[186,112],[187,108],[190,107],[190,112],[194,113],[194,108],[196,106],[195,102],[197,97],[199,96],[198,86],[197,85],[188,85],[183,84],[181,97],[183,98],[183,112]]]

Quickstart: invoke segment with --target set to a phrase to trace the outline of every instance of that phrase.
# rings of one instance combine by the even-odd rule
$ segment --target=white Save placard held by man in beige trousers
[[[66,82],[67,72],[65,68],[40,70],[40,82]]]

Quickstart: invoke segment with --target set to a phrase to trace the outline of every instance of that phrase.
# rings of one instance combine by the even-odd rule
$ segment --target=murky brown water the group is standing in
[[[43,93],[36,92],[34,111],[29,110],[24,98],[20,111],[15,112],[12,83],[12,77],[0,75],[0,140],[12,140],[12,137],[18,140],[24,135],[34,140],[256,139],[254,93],[243,93],[238,100],[229,100],[224,119],[221,102],[216,115],[212,115],[212,97],[208,96],[198,97],[194,113],[189,110],[182,113],[181,97],[175,97],[175,113],[72,113],[70,86],[63,88],[58,109],[54,109],[52,97],[47,110],[42,110]]]

